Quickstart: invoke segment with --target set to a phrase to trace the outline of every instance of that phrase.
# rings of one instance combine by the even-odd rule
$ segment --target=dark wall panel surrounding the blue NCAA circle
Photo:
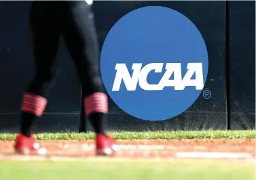
[[[110,102],[109,130],[226,129],[225,1],[95,1],[94,12],[100,43],[103,43],[107,32],[117,20],[133,9],[147,5],[170,7],[196,24],[208,49],[209,70],[205,90],[210,90],[213,96],[204,99],[200,95],[195,104],[183,114],[159,122],[133,118]]]

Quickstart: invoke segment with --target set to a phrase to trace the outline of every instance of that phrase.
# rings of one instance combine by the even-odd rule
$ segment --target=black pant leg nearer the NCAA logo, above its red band
[[[71,1],[64,37],[85,95],[104,92],[94,14],[86,1]]]

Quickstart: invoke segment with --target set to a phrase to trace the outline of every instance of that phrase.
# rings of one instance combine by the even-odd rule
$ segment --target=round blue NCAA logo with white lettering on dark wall
[[[113,102],[143,120],[166,120],[189,108],[208,73],[208,53],[196,26],[167,7],[149,6],[122,17],[100,55]]]

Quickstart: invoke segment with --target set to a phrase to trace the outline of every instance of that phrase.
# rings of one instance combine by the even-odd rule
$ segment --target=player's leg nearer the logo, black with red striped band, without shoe
[[[100,77],[94,18],[86,1],[70,1],[64,37],[82,84],[84,105],[96,133],[105,135],[107,95]]]

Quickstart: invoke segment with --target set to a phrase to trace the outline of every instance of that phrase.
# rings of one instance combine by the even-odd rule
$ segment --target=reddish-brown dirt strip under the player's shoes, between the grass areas
[[[41,141],[48,156],[92,157],[94,141]],[[255,139],[122,140],[120,158],[171,158],[177,152],[221,152],[251,154],[255,158]],[[14,141],[0,141],[0,155],[14,154]]]

